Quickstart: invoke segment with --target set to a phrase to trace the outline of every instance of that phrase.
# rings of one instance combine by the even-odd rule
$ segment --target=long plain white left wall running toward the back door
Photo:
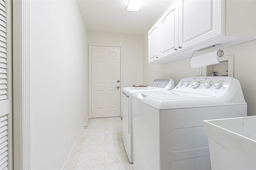
[[[30,1],[32,170],[61,169],[88,117],[87,32],[76,1]]]

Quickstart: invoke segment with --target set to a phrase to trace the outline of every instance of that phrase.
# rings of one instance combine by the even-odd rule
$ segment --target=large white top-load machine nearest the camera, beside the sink
[[[203,120],[247,116],[232,77],[182,79],[170,91],[133,94],[134,170],[210,170]]]

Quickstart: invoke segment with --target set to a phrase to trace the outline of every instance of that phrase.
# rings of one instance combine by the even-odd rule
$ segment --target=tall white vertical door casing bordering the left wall
[[[29,1],[21,1],[22,169],[30,170]]]

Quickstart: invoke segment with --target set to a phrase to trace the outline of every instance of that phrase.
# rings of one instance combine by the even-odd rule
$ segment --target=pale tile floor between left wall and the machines
[[[89,119],[86,126],[66,170],[132,170],[120,117]]]

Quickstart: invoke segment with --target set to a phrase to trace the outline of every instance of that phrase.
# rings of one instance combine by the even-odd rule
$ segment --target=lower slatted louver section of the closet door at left
[[[9,169],[9,117],[0,117],[0,170]]]

